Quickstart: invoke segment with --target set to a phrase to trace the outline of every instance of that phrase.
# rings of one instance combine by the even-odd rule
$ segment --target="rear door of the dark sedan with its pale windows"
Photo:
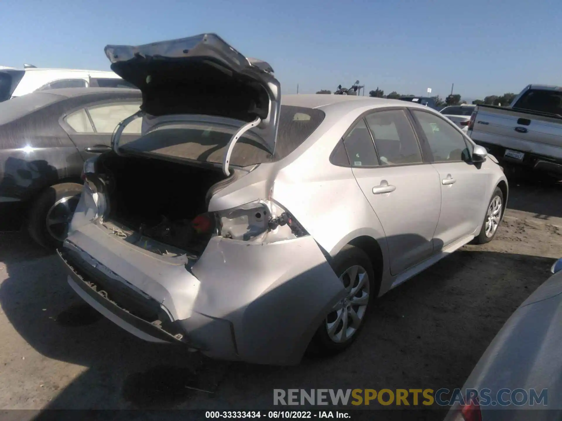
[[[109,148],[111,135],[117,125],[137,112],[139,107],[140,102],[110,102],[80,108],[63,119],[64,126],[82,157],[88,159],[94,154],[85,152],[84,149],[94,145]],[[139,137],[141,122],[134,120],[125,127],[121,145]]]

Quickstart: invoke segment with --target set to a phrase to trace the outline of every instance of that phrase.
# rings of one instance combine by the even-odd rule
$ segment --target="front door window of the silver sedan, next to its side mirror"
[[[455,127],[432,113],[411,111],[422,126],[434,162],[466,161],[469,158],[464,136]]]

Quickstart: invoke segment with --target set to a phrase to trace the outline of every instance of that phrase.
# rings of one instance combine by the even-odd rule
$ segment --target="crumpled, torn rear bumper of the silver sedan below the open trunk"
[[[214,237],[193,261],[87,223],[69,233],[59,254],[72,288],[111,321],[217,359],[298,364],[345,295],[311,236],[270,244]]]

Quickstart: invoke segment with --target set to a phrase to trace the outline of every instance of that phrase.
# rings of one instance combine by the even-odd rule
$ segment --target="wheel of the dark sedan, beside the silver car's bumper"
[[[31,238],[48,250],[62,246],[81,192],[80,184],[61,183],[39,194],[28,214]]]

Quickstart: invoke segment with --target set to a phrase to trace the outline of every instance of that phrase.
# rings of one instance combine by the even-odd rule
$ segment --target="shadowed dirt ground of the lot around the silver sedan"
[[[495,241],[390,291],[347,352],[289,368],[140,341],[82,304],[53,255],[0,234],[0,408],[268,409],[274,388],[461,387],[562,257],[562,185],[510,187]]]

